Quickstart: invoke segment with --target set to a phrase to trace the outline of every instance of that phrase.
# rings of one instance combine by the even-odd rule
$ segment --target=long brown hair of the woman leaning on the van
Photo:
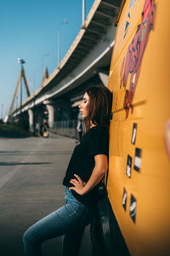
[[[89,88],[88,116],[84,118],[85,132],[90,129],[90,125],[104,126],[109,129],[109,119],[111,113],[112,93],[103,86],[97,85]]]

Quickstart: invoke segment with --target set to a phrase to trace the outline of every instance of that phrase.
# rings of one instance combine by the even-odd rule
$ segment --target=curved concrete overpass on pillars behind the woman
[[[77,38],[59,66],[42,79],[40,88],[10,114],[29,116],[41,123],[48,113],[51,127],[55,120],[77,119],[77,106],[84,91],[92,84],[105,84],[116,35],[116,17],[122,0],[96,0]],[[34,117],[35,114],[35,117]]]

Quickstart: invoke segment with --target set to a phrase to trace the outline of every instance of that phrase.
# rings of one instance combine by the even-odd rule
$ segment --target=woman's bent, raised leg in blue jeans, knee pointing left
[[[23,237],[25,255],[40,256],[42,241],[81,230],[89,224],[93,215],[81,203],[68,202],[26,230]]]

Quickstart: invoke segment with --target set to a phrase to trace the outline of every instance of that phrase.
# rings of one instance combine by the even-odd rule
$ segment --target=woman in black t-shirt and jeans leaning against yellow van
[[[83,230],[95,215],[98,184],[108,168],[111,92],[104,86],[87,90],[79,106],[85,132],[77,144],[63,184],[65,206],[33,224],[24,234],[26,256],[41,255],[41,243],[63,236],[63,255],[77,256]]]

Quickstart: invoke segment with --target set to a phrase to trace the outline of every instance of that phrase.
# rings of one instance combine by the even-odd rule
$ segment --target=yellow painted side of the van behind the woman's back
[[[126,61],[129,45],[142,22],[144,3],[145,0],[127,0],[117,26],[108,85],[113,91],[113,119],[107,189],[129,252],[134,256],[170,255],[169,1],[155,0],[154,29],[149,32],[140,62],[131,102],[133,108],[129,102],[126,105],[129,111],[123,108],[126,90],[131,90],[131,73],[128,73],[127,84],[121,86],[122,62]],[[145,17],[147,10],[150,8],[145,9]],[[138,63],[134,65],[137,66]],[[134,123],[137,133],[133,144]],[[141,149],[139,172],[133,167],[135,148]],[[132,157],[131,177],[126,174],[127,155]],[[126,211],[122,207],[123,188],[127,191]],[[129,214],[131,195],[136,199],[135,222]]]

